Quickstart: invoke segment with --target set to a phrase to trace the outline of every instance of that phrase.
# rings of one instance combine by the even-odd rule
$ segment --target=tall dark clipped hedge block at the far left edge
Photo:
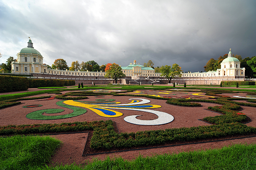
[[[28,88],[26,77],[0,75],[0,92],[25,91]]]

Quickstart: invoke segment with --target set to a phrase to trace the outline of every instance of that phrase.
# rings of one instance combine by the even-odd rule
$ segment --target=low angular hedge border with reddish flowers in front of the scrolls
[[[167,103],[177,106],[200,106],[195,102],[211,102],[220,104],[221,106],[208,107],[209,110],[219,112],[223,115],[206,117],[205,121],[212,123],[210,126],[198,126],[190,128],[173,128],[165,130],[150,130],[138,131],[136,133],[121,133],[114,131],[112,121],[100,122],[74,122],[61,124],[35,124],[35,125],[9,125],[1,126],[0,134],[12,133],[30,133],[30,132],[49,132],[49,131],[77,131],[77,130],[92,130],[93,136],[90,142],[90,147],[93,149],[111,149],[113,147],[134,147],[148,146],[156,144],[170,144],[173,141],[191,141],[197,139],[207,139],[212,137],[226,137],[236,135],[255,135],[256,128],[249,127],[242,122],[246,121],[246,115],[239,112],[240,106],[256,107],[255,99],[229,98],[218,93],[225,91],[209,91],[206,95],[214,95],[217,100],[203,99],[165,99],[154,96],[149,98],[167,100]],[[102,94],[101,94],[102,95]],[[123,95],[123,94],[122,94]],[[118,96],[118,95],[117,95]],[[143,96],[146,97],[146,96]],[[233,100],[246,100],[247,102],[237,102]],[[128,103],[127,103],[128,104]],[[45,128],[44,128],[45,127]]]

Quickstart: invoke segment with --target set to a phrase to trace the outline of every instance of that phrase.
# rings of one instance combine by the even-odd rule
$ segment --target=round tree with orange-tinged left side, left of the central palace
[[[105,74],[106,78],[113,78],[117,83],[118,78],[125,77],[125,74],[123,73],[122,68],[118,64],[108,63],[107,65],[110,65],[110,66],[109,66],[109,69],[106,70],[106,74]]]

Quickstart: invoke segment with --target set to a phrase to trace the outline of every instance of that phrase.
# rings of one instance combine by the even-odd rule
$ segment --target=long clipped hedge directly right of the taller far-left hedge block
[[[60,80],[60,79],[28,79],[29,88],[37,87],[62,87],[64,85],[75,85],[75,80]]]

